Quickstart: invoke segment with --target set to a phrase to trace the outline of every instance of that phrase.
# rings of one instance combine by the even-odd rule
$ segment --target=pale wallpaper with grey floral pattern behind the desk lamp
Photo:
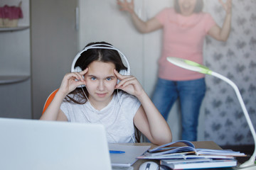
[[[207,67],[237,84],[252,124],[256,128],[256,1],[233,0],[233,18],[227,42],[206,38],[204,62]],[[205,11],[222,26],[225,11],[217,0],[206,0]],[[252,134],[233,88],[206,76],[204,99],[205,140],[218,145],[250,145]]]

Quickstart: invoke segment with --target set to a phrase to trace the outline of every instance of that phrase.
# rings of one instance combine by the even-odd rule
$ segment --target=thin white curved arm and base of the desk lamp
[[[222,75],[220,75],[216,72],[211,72],[211,75],[213,75],[214,77],[218,77],[219,79],[222,79],[223,81],[226,81],[228,84],[230,84],[230,86],[233,87],[233,89],[235,89],[235,94],[238,96],[238,101],[240,102],[240,105],[242,107],[242,111],[245,114],[245,118],[247,120],[250,131],[252,132],[253,140],[255,142],[255,150],[252,154],[252,157],[250,157],[250,159],[247,162],[245,162],[244,164],[241,164],[240,167],[247,167],[247,166],[254,165],[255,164],[255,157],[256,157],[256,133],[255,133],[255,129],[253,128],[252,121],[250,120],[250,116],[247,112],[247,109],[245,108],[245,103],[242,100],[242,96],[240,94],[238,86],[236,86],[235,83],[233,81],[231,81],[230,79],[228,79],[226,77],[223,77]]]

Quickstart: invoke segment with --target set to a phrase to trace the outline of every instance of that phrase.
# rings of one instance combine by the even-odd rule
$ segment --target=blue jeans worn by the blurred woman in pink
[[[169,81],[158,79],[152,101],[167,120],[169,111],[179,98],[181,103],[182,140],[196,141],[198,115],[206,94],[205,79]]]

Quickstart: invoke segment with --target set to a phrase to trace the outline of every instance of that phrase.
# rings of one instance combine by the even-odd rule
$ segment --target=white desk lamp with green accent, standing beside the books
[[[208,69],[208,67],[203,66],[201,64],[198,64],[196,62],[192,62],[190,60],[184,60],[181,58],[176,58],[176,57],[167,57],[167,60],[169,62],[171,62],[172,64],[175,64],[178,67],[181,67],[183,69],[189,69],[191,71],[194,72],[200,72],[202,74],[210,74],[214,77],[218,77],[219,79],[222,79],[223,81],[226,81],[228,84],[230,84],[230,86],[233,87],[233,89],[235,89],[235,94],[238,96],[238,101],[240,102],[240,105],[242,106],[242,111],[245,114],[245,118],[247,120],[247,123],[249,125],[250,131],[252,132],[252,137],[253,140],[255,142],[255,150],[252,154],[252,157],[250,157],[250,159],[245,162],[244,164],[241,164],[239,167],[235,168],[235,169],[243,169],[243,170],[252,170],[252,169],[256,169],[256,164],[255,164],[255,157],[256,157],[256,133],[255,133],[255,129],[253,128],[252,125],[252,121],[250,120],[250,116],[245,108],[245,103],[242,101],[242,96],[240,94],[240,91],[238,89],[238,86],[235,85],[235,83],[233,81],[231,81],[230,79],[223,77],[222,75],[211,71],[210,69]]]

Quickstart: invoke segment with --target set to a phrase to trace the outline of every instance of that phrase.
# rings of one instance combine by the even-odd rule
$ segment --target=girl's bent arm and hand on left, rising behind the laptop
[[[65,114],[60,110],[60,105],[63,102],[65,96],[67,96],[71,91],[75,90],[76,87],[85,84],[83,75],[86,74],[88,69],[82,72],[72,72],[65,74],[63,81],[55,94],[53,101],[46,109],[45,113],[41,116],[40,120],[63,120],[68,121]],[[78,81],[79,80],[79,81]]]

